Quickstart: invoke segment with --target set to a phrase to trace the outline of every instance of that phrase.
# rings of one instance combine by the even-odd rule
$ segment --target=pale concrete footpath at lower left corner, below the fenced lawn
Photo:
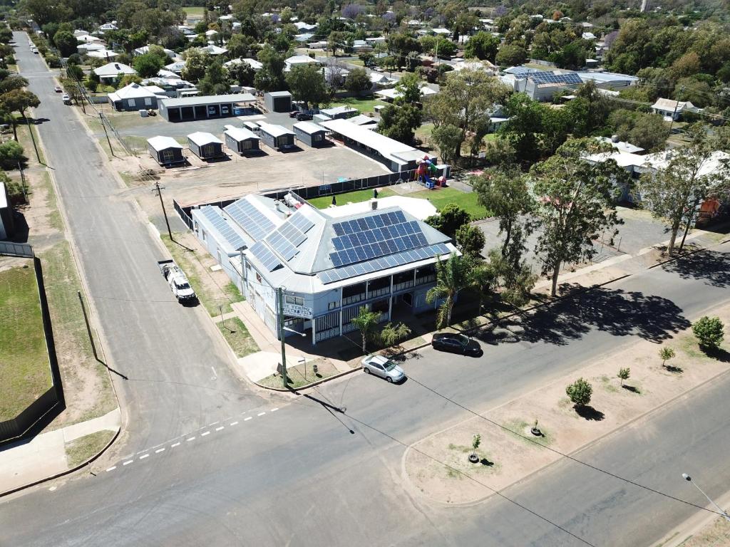
[[[115,408],[99,418],[3,446],[0,448],[0,495],[68,471],[66,443],[99,431],[116,433],[120,426],[121,411]],[[89,458],[97,452],[89,454]]]

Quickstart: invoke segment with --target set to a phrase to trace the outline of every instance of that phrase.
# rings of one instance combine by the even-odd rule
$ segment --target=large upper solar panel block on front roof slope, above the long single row
[[[400,211],[337,222],[333,228],[337,237],[329,257],[337,268],[426,245],[418,222],[407,222]]]

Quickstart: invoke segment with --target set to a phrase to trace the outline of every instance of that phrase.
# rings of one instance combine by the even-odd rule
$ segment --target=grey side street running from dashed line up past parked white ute
[[[31,53],[26,34],[14,37],[21,74],[41,100],[37,129],[104,333],[107,364],[128,377],[112,375],[128,418],[129,449],[261,404],[229,372],[232,356],[205,311],[174,300],[157,267],[166,258],[160,243],[134,203],[115,198],[120,187],[106,158],[54,92],[53,74]]]

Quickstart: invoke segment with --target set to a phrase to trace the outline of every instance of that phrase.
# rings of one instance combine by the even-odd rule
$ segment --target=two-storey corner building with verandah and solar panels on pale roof
[[[316,344],[356,330],[352,319],[363,306],[387,322],[439,305],[427,303],[426,292],[436,284],[437,260],[458,253],[451,239],[399,206],[372,203],[337,216],[293,193],[247,195],[191,216],[197,238],[272,333],[283,287],[285,325]]]

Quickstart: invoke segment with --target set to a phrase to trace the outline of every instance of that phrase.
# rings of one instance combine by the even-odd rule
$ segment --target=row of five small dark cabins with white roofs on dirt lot
[[[315,123],[298,122],[293,125],[293,130],[270,123],[245,122],[242,128],[226,125],[223,138],[226,139],[228,149],[240,155],[257,152],[260,140],[275,150],[294,147],[295,138],[310,147],[318,147],[326,142],[326,130]],[[188,148],[201,160],[223,157],[223,141],[212,133],[191,133],[188,135]],[[172,137],[155,136],[147,139],[147,150],[161,166],[185,163],[183,146]]]

